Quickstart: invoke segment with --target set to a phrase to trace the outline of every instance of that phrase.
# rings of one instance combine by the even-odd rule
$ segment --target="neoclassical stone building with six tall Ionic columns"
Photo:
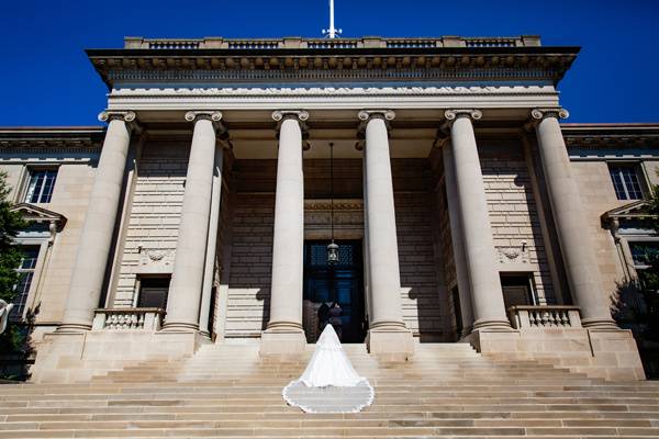
[[[578,52],[536,36],[87,50],[107,127],[0,130],[31,221],[14,317],[34,315],[33,380],[211,342],[295,356],[333,301],[344,341],[383,360],[461,341],[643,379],[612,306],[659,241],[637,201],[659,125],[561,125]]]

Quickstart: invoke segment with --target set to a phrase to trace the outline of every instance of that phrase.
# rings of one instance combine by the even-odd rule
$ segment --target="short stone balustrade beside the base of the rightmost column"
[[[515,329],[581,328],[579,306],[511,306],[509,318]]]

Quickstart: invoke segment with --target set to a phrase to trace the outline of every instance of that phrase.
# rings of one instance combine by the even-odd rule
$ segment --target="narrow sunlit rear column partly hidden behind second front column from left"
[[[222,164],[224,150],[215,150],[215,165],[213,166],[213,187],[211,195],[211,217],[209,239],[206,244],[205,266],[203,269],[203,286],[201,289],[201,309],[199,312],[199,330],[210,336],[209,318],[211,315],[211,295],[213,294],[213,280],[215,278],[215,257],[217,252],[217,228],[220,227],[220,206],[222,202]]]

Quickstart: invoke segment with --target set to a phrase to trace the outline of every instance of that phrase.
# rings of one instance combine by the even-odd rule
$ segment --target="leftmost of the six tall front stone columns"
[[[57,328],[60,333],[91,329],[93,309],[99,307],[135,113],[107,111],[99,114],[99,120],[109,123],[108,132],[89,196],[64,316]]]

